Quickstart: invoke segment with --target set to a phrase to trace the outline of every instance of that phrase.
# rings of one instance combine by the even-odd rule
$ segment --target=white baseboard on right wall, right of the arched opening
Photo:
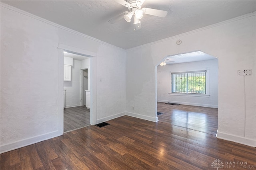
[[[231,135],[231,134],[220,132],[218,130],[217,130],[216,137],[218,139],[224,139],[226,141],[232,141],[232,142],[240,143],[240,144],[247,145],[247,146],[250,146],[250,147],[256,147],[256,140],[255,139],[249,139],[249,138],[246,138],[246,137]]]

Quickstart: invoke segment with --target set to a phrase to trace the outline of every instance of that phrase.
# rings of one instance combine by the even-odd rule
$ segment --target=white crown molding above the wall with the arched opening
[[[231,23],[231,22],[234,22],[234,21],[238,21],[238,20],[242,20],[244,18],[249,18],[249,17],[252,17],[252,16],[255,16],[256,15],[256,11],[254,12],[250,12],[248,14],[244,14],[242,16],[238,16],[236,18],[232,18],[232,19],[229,19],[229,20],[226,20],[226,21],[221,21],[221,22],[218,22],[218,23],[215,23],[215,24],[212,24],[212,25],[208,25],[206,27],[202,27],[202,28],[198,28],[198,29],[194,29],[192,31],[188,31],[186,33],[182,33],[182,34],[179,34],[179,35],[174,35],[172,37],[168,37],[168,38],[165,38],[165,39],[160,39],[158,41],[154,41],[152,43],[147,43],[147,44],[144,44],[144,45],[139,45],[137,47],[133,47],[133,48],[130,48],[130,49],[126,49],[126,52],[128,51],[133,51],[135,49],[138,49],[138,48],[141,48],[141,47],[146,47],[146,46],[149,46],[149,45],[153,45],[153,44],[156,44],[156,43],[161,43],[161,42],[164,42],[164,41],[168,41],[168,40],[172,40],[172,39],[177,39],[177,38],[180,38],[182,36],[185,36],[185,35],[189,35],[189,34],[192,34],[192,33],[196,33],[196,32],[200,32],[200,31],[204,31],[206,29],[211,29],[213,27],[218,27],[220,25],[225,25],[225,24],[228,24],[228,23]]]

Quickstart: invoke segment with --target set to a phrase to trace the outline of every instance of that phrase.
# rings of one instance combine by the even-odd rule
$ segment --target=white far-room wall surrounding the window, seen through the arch
[[[207,70],[206,86],[210,96],[170,95],[170,72]],[[191,63],[167,64],[157,67],[158,102],[180,103],[192,106],[218,108],[218,59]]]

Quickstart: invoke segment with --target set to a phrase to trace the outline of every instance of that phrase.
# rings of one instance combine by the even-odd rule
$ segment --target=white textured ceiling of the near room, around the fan
[[[166,10],[166,18],[144,15],[142,29],[131,21],[108,20],[127,11],[113,0],[1,1],[122,49],[130,49],[256,11],[255,0],[146,0],[142,7]]]

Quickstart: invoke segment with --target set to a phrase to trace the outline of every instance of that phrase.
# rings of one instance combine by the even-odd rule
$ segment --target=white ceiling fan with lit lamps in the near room
[[[145,0],[117,0],[117,3],[125,6],[128,8],[129,11],[123,12],[118,16],[109,20],[109,23],[115,23],[118,20],[124,18],[127,22],[130,22],[132,17],[134,18],[134,25],[135,29],[140,29],[140,19],[143,17],[144,14],[158,16],[164,18],[167,15],[167,11],[163,10],[156,10],[152,8],[142,8],[142,4]]]

